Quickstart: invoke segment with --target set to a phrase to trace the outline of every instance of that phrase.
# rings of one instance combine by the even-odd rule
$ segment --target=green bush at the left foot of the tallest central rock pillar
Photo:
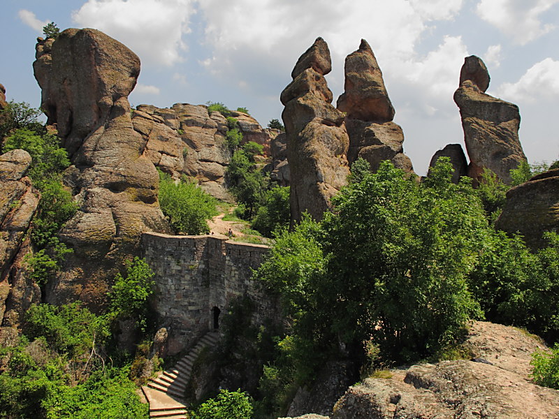
[[[252,221],[252,228],[266,237],[273,231],[289,226],[289,186],[276,186],[266,191],[263,203]]]

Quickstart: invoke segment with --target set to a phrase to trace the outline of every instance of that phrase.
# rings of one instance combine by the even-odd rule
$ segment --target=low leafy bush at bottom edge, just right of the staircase
[[[196,409],[194,419],[251,419],[251,398],[239,390],[220,390],[215,399],[209,399]]]

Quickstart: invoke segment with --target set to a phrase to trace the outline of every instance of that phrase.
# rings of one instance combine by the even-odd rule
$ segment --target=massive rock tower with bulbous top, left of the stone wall
[[[36,45],[35,77],[48,124],[58,129],[72,166],[65,182],[80,207],[59,237],[74,249],[46,300],[103,304],[122,259],[140,234],[166,231],[157,200],[159,177],[133,130],[128,95],[140,60],[95,29],[66,29]]]

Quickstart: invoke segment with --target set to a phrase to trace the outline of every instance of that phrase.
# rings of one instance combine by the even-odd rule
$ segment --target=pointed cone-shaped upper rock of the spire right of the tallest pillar
[[[382,123],[394,118],[382,71],[364,39],[359,49],[345,59],[344,93],[337,99],[337,108],[347,112],[347,119]]]

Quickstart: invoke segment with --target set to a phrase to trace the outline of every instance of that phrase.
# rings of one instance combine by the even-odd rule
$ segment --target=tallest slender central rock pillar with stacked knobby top
[[[291,219],[307,211],[315,219],[347,182],[349,138],[344,115],[332,105],[324,75],[331,71],[330,51],[322,38],[298,59],[293,81],[280,97],[291,172]]]

